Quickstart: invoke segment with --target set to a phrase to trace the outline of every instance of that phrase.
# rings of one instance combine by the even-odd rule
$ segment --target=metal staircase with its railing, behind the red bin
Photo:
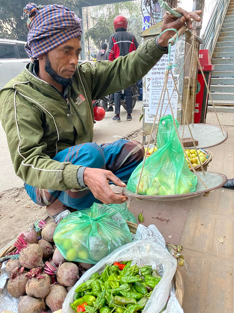
[[[217,0],[202,49],[210,50],[215,64],[210,91],[216,110],[234,112],[234,0]],[[212,105],[210,100],[208,105]]]

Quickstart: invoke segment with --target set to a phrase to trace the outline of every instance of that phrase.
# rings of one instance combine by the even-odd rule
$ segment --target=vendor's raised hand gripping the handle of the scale
[[[176,30],[179,30],[185,25],[185,23],[187,24],[188,29],[192,29],[193,23],[191,21],[191,18],[193,18],[197,22],[201,21],[201,18],[199,16],[199,14],[202,14],[201,10],[196,10],[193,12],[187,12],[182,8],[176,8],[174,10],[182,14],[183,16],[181,18],[177,18],[167,11],[163,17],[162,32],[168,28],[175,28]],[[160,37],[158,37],[158,44],[160,44],[162,47],[166,47],[168,45],[168,40],[172,38],[174,34],[175,32],[172,30],[168,30],[167,32],[163,33]]]

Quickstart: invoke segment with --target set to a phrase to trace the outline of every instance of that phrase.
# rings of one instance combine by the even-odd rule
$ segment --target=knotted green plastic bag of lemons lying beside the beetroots
[[[67,261],[96,264],[116,248],[132,242],[125,218],[134,216],[125,208],[123,217],[118,206],[94,203],[90,209],[63,218],[54,233],[54,242],[63,257]]]

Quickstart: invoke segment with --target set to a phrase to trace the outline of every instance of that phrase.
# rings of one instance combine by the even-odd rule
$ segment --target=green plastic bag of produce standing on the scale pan
[[[178,128],[179,123],[175,121]],[[175,195],[196,191],[197,176],[188,168],[171,115],[161,117],[157,135],[158,150],[146,158],[138,193]],[[133,171],[127,188],[136,192],[143,162]]]

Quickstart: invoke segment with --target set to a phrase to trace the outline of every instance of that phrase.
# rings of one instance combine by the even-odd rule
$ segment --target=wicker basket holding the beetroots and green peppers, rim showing
[[[130,232],[135,234],[138,225],[129,221],[127,221],[127,224],[128,224]],[[12,244],[11,246],[7,247],[5,250],[2,251],[2,253],[0,254],[0,258],[14,251],[16,251],[16,247]],[[2,266],[2,263],[0,263],[0,269],[1,269],[1,266]],[[184,282],[183,282],[183,277],[182,277],[178,263],[177,263],[177,269],[173,277],[173,280],[174,280],[174,285],[175,285],[176,298],[179,301],[179,304],[182,305],[183,295],[184,295]]]

